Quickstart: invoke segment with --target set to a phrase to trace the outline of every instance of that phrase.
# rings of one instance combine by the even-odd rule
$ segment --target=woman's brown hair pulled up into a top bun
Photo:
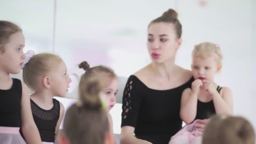
[[[175,31],[176,31],[176,38],[180,39],[182,34],[182,26],[180,21],[178,20],[178,13],[176,13],[173,9],[168,9],[168,11],[165,11],[162,16],[158,17],[157,19],[152,20],[149,23],[148,28],[154,24],[154,23],[170,23],[174,25]]]

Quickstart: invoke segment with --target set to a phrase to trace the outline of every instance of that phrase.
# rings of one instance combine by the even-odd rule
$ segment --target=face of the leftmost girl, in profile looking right
[[[0,51],[0,69],[8,74],[18,74],[25,59],[24,45],[25,38],[22,32],[12,34],[4,46],[4,51]]]

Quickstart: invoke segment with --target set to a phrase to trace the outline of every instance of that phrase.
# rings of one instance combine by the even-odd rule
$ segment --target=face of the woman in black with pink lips
[[[180,46],[181,39],[177,39],[173,24],[159,22],[149,26],[147,49],[153,62],[174,61]]]

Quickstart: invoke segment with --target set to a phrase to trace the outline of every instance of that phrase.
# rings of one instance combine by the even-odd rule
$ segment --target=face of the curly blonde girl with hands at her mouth
[[[214,56],[203,59],[200,56],[193,57],[192,73],[195,79],[213,81],[214,75],[219,72],[221,66],[217,64]]]

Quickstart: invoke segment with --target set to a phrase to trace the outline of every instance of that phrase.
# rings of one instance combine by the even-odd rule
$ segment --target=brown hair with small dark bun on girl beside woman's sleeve
[[[103,65],[90,67],[87,61],[83,61],[78,67],[85,70],[85,73],[81,76],[81,79],[96,77],[101,81],[103,87],[109,85],[112,79],[117,77],[111,68]]]

